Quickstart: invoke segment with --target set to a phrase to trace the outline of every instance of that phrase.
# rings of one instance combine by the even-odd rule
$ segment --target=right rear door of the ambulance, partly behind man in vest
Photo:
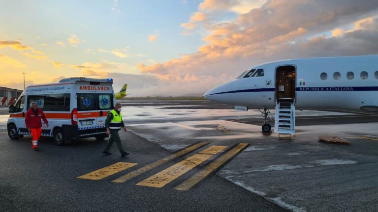
[[[97,96],[97,107],[99,110],[97,116],[97,132],[106,132],[105,128],[105,120],[108,113],[113,109],[113,93],[111,89],[111,85],[100,85],[102,89],[96,90]],[[109,88],[109,89],[108,89]]]

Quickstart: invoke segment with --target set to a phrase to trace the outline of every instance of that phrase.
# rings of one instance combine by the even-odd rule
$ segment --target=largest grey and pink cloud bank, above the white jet
[[[232,0],[204,2],[201,8],[207,11],[229,11],[237,5]],[[153,65],[139,63],[138,68],[142,74],[169,79],[164,88],[181,82],[180,88],[197,85],[208,90],[253,65],[272,60],[378,54],[377,15],[376,0],[364,4],[353,0],[343,4],[336,0],[269,0],[234,20],[208,22],[203,38],[207,43],[195,53]],[[317,36],[332,32],[333,36]]]

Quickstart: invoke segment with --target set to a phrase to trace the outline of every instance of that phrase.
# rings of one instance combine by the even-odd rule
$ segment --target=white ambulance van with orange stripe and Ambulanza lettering
[[[113,79],[67,78],[58,83],[28,86],[9,106],[7,123],[11,139],[31,135],[26,129],[25,114],[36,102],[46,114],[49,128],[42,121],[41,136],[53,137],[57,145],[73,139],[108,137],[105,119],[115,103]]]

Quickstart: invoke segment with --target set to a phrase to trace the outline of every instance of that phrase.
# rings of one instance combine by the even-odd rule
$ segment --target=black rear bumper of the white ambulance
[[[109,135],[106,134],[106,128],[79,130],[77,125],[63,125],[63,132],[65,137],[69,139],[95,137],[96,135],[109,137]]]

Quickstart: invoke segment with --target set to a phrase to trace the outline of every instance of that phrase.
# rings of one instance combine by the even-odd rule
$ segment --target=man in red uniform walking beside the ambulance
[[[37,106],[36,102],[32,102],[31,107],[29,108],[29,110],[26,112],[26,115],[25,115],[25,124],[28,131],[32,132],[32,136],[33,136],[32,147],[34,151],[38,151],[38,148],[37,148],[38,139],[41,137],[41,133],[42,133],[41,118],[43,119],[43,122],[46,124],[46,126],[49,127],[49,123],[46,119],[45,114],[41,110],[41,108]]]

